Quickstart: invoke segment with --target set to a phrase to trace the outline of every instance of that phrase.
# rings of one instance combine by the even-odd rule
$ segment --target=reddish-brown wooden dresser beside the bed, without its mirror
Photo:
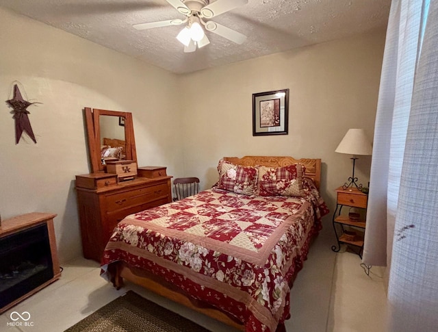
[[[161,166],[138,168],[138,177],[129,181],[117,181],[117,175],[110,173],[76,175],[83,257],[100,262],[120,220],[170,203],[171,178]]]

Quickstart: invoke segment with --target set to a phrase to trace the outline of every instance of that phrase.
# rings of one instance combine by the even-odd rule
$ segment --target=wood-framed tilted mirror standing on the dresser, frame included
[[[137,162],[132,114],[85,107],[92,173],[106,170],[107,160]]]

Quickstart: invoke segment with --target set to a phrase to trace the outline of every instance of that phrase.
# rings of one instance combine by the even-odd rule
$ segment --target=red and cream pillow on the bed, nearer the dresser
[[[257,185],[257,168],[219,161],[216,187],[236,194],[253,195]]]

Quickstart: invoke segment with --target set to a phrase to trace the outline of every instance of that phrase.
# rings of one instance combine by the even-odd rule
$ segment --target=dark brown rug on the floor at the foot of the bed
[[[65,332],[209,332],[198,324],[128,291]]]

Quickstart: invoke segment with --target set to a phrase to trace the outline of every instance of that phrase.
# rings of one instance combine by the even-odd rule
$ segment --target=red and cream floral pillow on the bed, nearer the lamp
[[[284,167],[257,166],[259,196],[306,196],[302,186],[305,166],[294,164]]]

